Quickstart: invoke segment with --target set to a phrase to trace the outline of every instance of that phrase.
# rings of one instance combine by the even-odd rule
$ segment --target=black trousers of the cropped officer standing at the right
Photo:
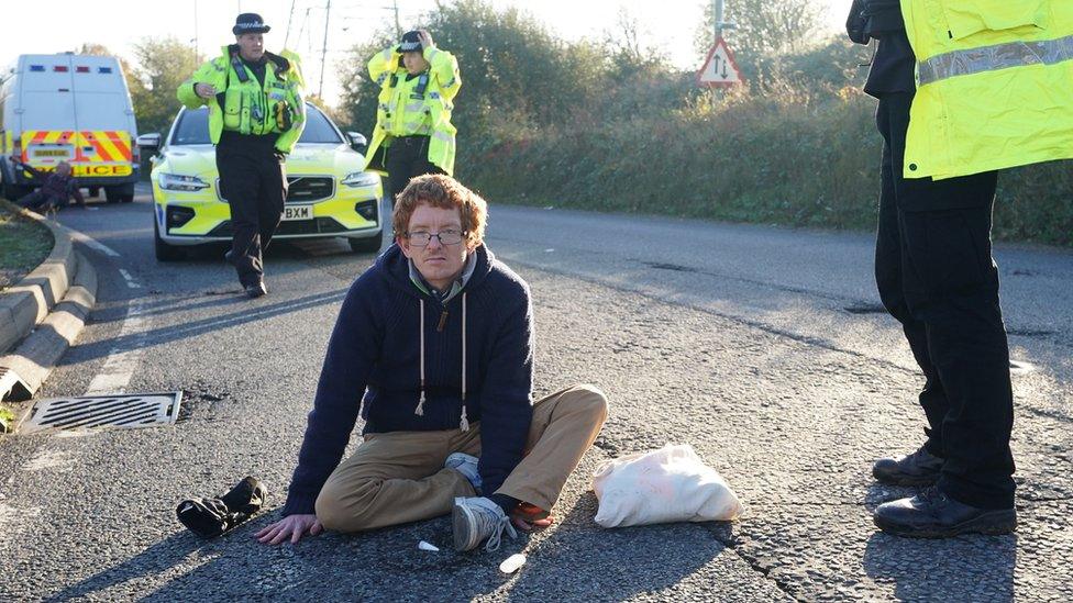
[[[926,446],[939,488],[985,509],[1014,506],[1009,347],[991,255],[994,171],[904,179],[912,93],[880,99],[883,190],[875,247],[880,298],[925,375]]]

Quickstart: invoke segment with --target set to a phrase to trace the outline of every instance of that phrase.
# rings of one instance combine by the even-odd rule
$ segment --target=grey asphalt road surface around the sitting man
[[[0,439],[0,600],[1073,600],[1069,252],[996,250],[1021,362],[1016,535],[872,524],[911,490],[877,485],[871,464],[915,449],[923,415],[871,236],[493,203],[488,245],[533,291],[536,393],[591,382],[611,404],[557,524],[496,554],[455,554],[449,518],[268,547],[251,536],[278,518],[339,305],[374,258],[274,245],[270,293],[250,301],[220,249],[154,259],[145,192],[59,215],[110,252],[84,248],[98,308],[41,395],[182,391],[182,417]],[[666,443],[692,444],[745,516],[597,526],[595,468]],[[179,500],[246,474],[268,512],[211,541],[176,522]],[[528,563],[501,574],[519,551]]]

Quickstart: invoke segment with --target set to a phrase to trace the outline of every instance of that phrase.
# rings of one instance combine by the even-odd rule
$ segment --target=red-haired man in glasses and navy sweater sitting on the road
[[[285,517],[262,543],[452,512],[455,548],[495,550],[505,529],[550,525],[607,402],[590,386],[532,402],[529,287],[484,245],[486,215],[449,176],[399,194],[396,244],[343,302]],[[364,442],[340,464],[359,407]]]

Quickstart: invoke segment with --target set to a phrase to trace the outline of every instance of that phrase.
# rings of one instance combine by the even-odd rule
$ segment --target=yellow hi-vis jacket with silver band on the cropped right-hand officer
[[[917,56],[905,177],[1073,157],[1073,0],[901,0]]]

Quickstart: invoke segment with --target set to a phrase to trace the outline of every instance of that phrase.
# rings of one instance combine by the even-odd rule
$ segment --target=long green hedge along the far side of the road
[[[874,111],[845,88],[821,100],[742,94],[717,110],[530,130],[493,146],[461,136],[458,176],[494,202],[871,230]],[[1005,171],[995,236],[1073,245],[1071,174],[1071,161]]]

